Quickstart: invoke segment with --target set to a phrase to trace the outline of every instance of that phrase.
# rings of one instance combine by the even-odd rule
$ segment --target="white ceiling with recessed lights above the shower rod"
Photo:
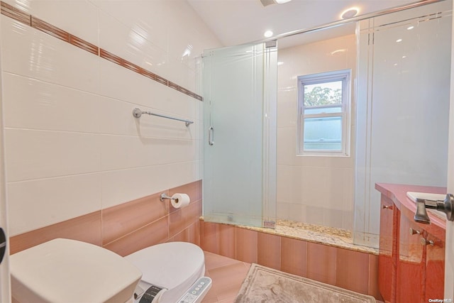
[[[224,46],[265,39],[263,33],[275,35],[314,28],[341,20],[341,13],[358,7],[359,15],[414,3],[411,0],[293,0],[286,4],[262,6],[260,0],[187,0],[196,13],[217,35]],[[416,1],[418,2],[418,1]],[[336,31],[354,33],[354,26]],[[320,35],[320,34],[317,34]],[[292,43],[286,38],[287,43]],[[279,48],[282,42],[279,40]]]

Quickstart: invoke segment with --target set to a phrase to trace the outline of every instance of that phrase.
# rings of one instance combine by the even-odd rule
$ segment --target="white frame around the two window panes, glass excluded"
[[[336,70],[321,72],[318,74],[303,75],[298,78],[298,131],[297,131],[297,155],[318,155],[318,156],[344,156],[350,155],[350,104],[351,104],[351,70]],[[304,86],[308,84],[322,84],[327,82],[342,82],[341,112],[304,114]],[[334,106],[311,106],[314,108],[332,108]],[[304,150],[304,119],[341,117],[341,150]]]

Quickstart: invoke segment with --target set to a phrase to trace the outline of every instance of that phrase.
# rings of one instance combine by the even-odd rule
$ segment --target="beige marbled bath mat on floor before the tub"
[[[375,298],[253,263],[234,303],[375,303]]]

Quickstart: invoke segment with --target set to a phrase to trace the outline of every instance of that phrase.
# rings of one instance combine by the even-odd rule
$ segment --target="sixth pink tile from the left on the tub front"
[[[336,248],[308,242],[307,277],[336,285]]]

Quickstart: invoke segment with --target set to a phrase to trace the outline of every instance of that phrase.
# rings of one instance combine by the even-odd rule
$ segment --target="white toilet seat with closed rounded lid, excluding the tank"
[[[204,251],[188,242],[157,244],[124,258],[142,272],[139,286],[144,290],[151,285],[167,289],[157,302],[177,302],[205,273]]]

